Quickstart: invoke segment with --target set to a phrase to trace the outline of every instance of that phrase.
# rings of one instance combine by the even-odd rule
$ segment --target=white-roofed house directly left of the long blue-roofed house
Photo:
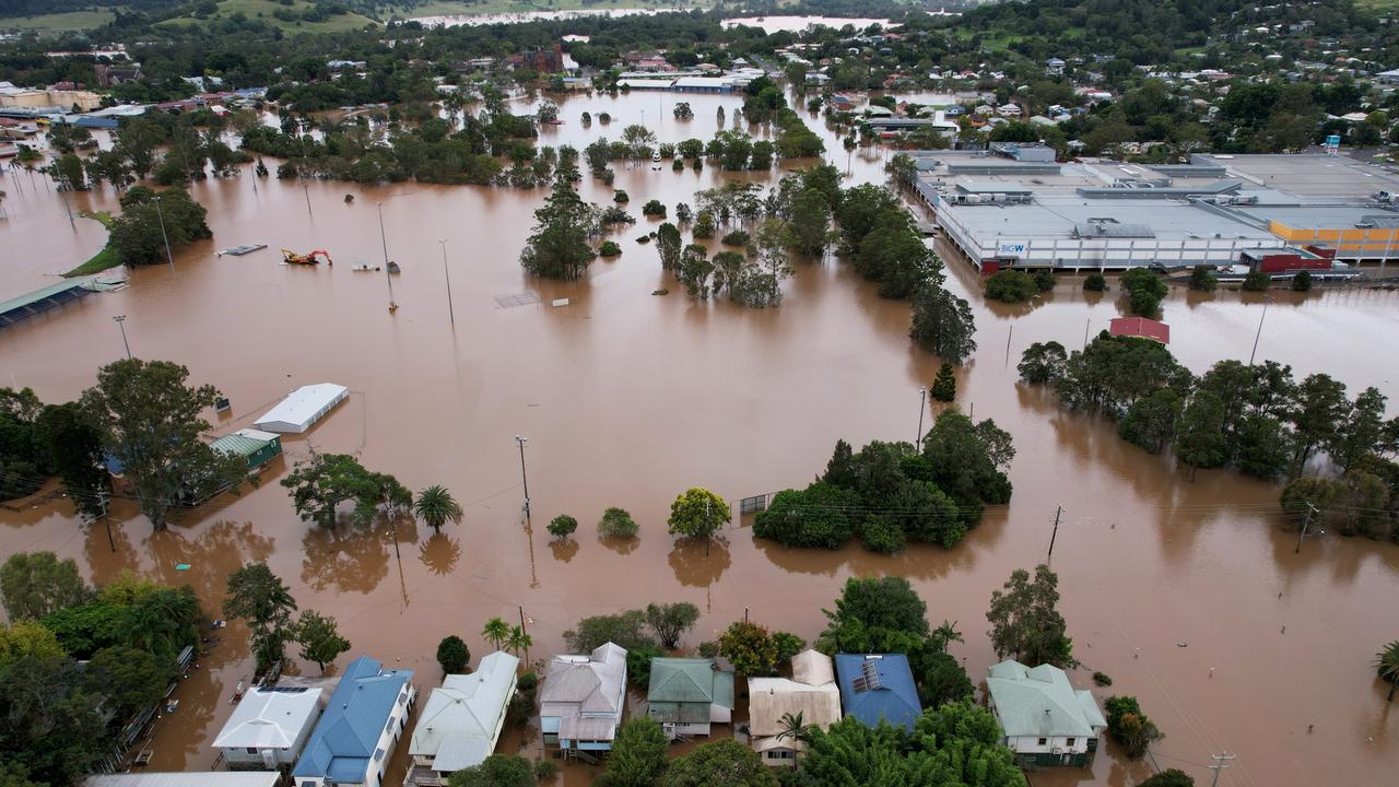
[[[320,718],[325,693],[312,688],[259,688],[243,695],[214,738],[228,770],[291,767]]]

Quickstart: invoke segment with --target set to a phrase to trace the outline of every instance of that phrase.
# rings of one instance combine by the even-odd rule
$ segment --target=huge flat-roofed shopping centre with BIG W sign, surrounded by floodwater
[[[1351,262],[1399,253],[1399,178],[1378,167],[1326,155],[1059,164],[1045,150],[921,151],[915,160],[919,197],[983,273],[1223,267],[1262,249]]]

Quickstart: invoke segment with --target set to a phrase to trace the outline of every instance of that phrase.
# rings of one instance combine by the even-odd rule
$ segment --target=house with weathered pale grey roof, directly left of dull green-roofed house
[[[606,643],[588,655],[555,655],[544,671],[539,721],[546,746],[611,751],[627,709],[627,651]]]

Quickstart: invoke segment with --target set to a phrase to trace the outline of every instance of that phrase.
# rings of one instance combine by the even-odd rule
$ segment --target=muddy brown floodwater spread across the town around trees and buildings
[[[673,98],[568,98],[565,125],[547,129],[541,143],[616,139],[642,112],[662,140],[708,139],[715,108],[722,104],[732,116],[739,105],[737,97],[687,97],[695,119],[681,123],[670,116]],[[583,127],[585,109],[616,119]],[[813,127],[839,150],[834,133]],[[845,158],[841,151],[835,161]],[[852,179],[880,179],[880,158],[855,155]],[[1399,714],[1384,702],[1370,662],[1399,636],[1392,602],[1399,548],[1323,535],[1297,555],[1274,486],[1228,472],[1192,479],[1121,441],[1111,424],[1065,415],[1044,391],[1016,384],[1027,344],[1081,346],[1086,330],[1119,314],[1111,294],[1084,295],[1066,281],[1032,307],[988,305],[974,293],[977,276],[946,255],[949,286],[972,293],[981,344],[958,372],[958,405],[996,419],[1017,448],[1014,500],[989,511],[957,548],[918,545],[898,556],[855,545],[796,550],[734,527],[706,555],[666,535],[669,503],[686,487],[737,500],[804,485],[823,471],[837,438],[855,445],[914,438],[918,388],[937,368],[936,357],[907,339],[908,305],[877,298],[831,259],[799,265],[775,309],[687,301],[653,246],[634,242],[655,224],[639,209],[652,197],[672,209],[693,204],[697,188],[722,178],[713,168],[618,169],[616,188],[630,193],[639,223],[618,234],[621,258],[596,262],[574,283],[529,280],[518,265],[543,189],[311,183],[304,190],[267,179],[255,190],[246,174],[197,185],[214,239],[180,249],[173,272],[137,270],[126,290],[4,330],[0,382],[34,386],[50,402],[77,396],[98,365],[122,356],[111,318],[126,314],[133,353],[183,363],[193,381],[232,399],[232,415],[215,420],[220,434],[249,426],[298,385],[344,384],[350,401],[309,434],[287,436],[285,458],[257,489],[193,511],[168,532],[152,534],[130,504],[118,504],[113,550],[105,531],[83,527],[64,501],[25,501],[0,510],[0,548],[55,550],[97,583],[123,569],[189,583],[210,611],[234,567],[264,560],[302,608],[339,619],[354,644],[341,665],[371,654],[417,669],[424,692],[438,683],[438,640],[460,634],[478,660],[487,646],[477,632],[492,616],[527,619],[532,660],[562,648],[562,633],[582,616],[651,601],[691,601],[704,611],[688,646],[713,639],[744,611],[810,640],[846,577],[897,574],[915,584],[935,625],[958,622],[967,641],[951,653],[979,678],[995,661],[985,625],[990,592],[1011,570],[1045,559],[1055,508],[1063,506],[1053,569],[1084,664],[1072,678],[1087,686],[1098,669],[1114,679],[1100,700],[1136,695],[1167,735],[1154,748],[1161,767],[1209,779],[1210,755],[1227,751],[1238,759],[1220,780],[1226,786],[1393,783]],[[101,242],[90,221],[69,228],[52,192],[7,190],[0,295],[52,281],[48,273]],[[582,192],[600,203],[611,196],[592,178]],[[115,202],[104,192],[73,199],[84,209]],[[253,242],[270,248],[213,256]],[[400,304],[392,315],[386,276],[351,270],[358,260],[382,263],[382,242],[404,269],[392,281]],[[278,248],[323,248],[336,265],[285,267]],[[652,295],[659,287],[672,294]],[[522,294],[539,304],[497,301]],[[550,307],[555,298],[569,302]],[[1279,294],[1258,354],[1291,364],[1298,377],[1326,371],[1353,391],[1375,385],[1399,398],[1399,367],[1374,347],[1393,330],[1396,305],[1399,295],[1368,290]],[[1196,371],[1247,358],[1262,312],[1262,301],[1237,293],[1172,291],[1165,302],[1172,351]],[[516,434],[529,438],[532,522],[520,515]],[[301,522],[277,480],[312,447],[357,452],[413,489],[446,485],[466,520],[441,534],[410,521],[368,531]],[[609,506],[635,515],[638,542],[597,539],[593,524]],[[560,513],[581,527],[569,542],[551,543],[543,525]],[[176,570],[180,563],[189,569]],[[242,630],[222,633],[225,641],[179,688],[179,710],[158,723],[154,769],[214,762],[210,741],[232,709],[234,686],[252,671]],[[520,746],[537,749],[537,737],[512,730],[499,751]],[[400,746],[389,784],[402,777],[404,759]],[[592,773],[568,766],[567,783],[586,784]],[[1034,783],[1125,787],[1147,773],[1149,763],[1128,763],[1108,746],[1091,770],[1035,774]]]

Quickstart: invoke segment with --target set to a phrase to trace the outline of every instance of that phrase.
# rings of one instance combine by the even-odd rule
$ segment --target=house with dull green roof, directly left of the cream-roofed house
[[[733,672],[709,658],[652,658],[646,716],[676,735],[708,735],[733,720]]]

